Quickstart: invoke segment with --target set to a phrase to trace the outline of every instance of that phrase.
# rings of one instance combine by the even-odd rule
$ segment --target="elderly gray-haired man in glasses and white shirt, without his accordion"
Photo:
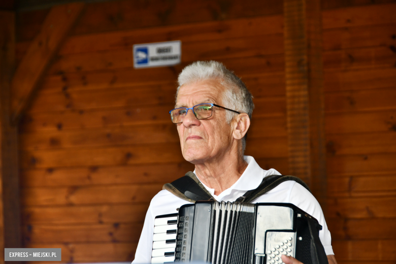
[[[176,105],[170,114],[182,154],[194,164],[194,174],[217,201],[234,202],[256,189],[264,177],[280,175],[274,169],[261,169],[253,157],[243,155],[254,105],[251,93],[233,72],[216,61],[197,61],[183,69],[178,82]],[[323,226],[319,237],[329,263],[337,263],[322,210],[302,185],[285,181],[254,203],[291,203],[314,216]],[[133,263],[151,261],[155,216],[176,213],[184,204],[185,200],[168,190],[153,197]],[[285,255],[282,260],[300,263]]]

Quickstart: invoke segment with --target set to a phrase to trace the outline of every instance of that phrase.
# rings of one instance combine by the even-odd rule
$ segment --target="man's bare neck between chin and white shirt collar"
[[[195,164],[195,174],[206,186],[214,189],[215,195],[219,195],[238,181],[247,166],[243,157],[228,157],[216,162]]]

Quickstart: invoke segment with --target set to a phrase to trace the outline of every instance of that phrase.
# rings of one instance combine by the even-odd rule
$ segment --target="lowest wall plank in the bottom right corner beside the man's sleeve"
[[[396,240],[332,241],[337,260],[371,260],[377,262],[396,258]]]

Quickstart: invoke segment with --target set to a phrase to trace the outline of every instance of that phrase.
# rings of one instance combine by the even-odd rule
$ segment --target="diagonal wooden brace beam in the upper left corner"
[[[84,4],[55,6],[39,35],[30,44],[12,79],[12,118],[17,121],[29,105],[32,94],[62,41],[79,17]]]

